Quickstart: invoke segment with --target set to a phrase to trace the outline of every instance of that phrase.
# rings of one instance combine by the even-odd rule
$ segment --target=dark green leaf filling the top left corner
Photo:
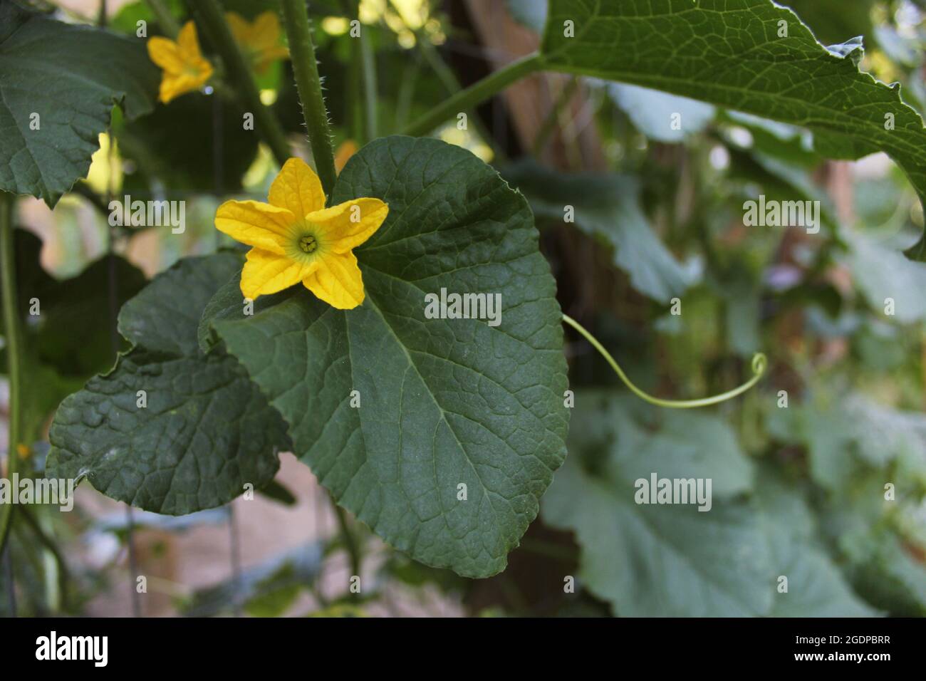
[[[141,39],[0,3],[0,189],[54,208],[87,174],[113,105],[147,113],[157,80]]]

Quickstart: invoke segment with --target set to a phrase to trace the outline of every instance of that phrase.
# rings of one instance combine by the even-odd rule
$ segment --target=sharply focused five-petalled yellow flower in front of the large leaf
[[[325,208],[319,176],[290,158],[270,185],[269,204],[226,201],[216,211],[219,232],[253,246],[241,273],[252,300],[302,282],[337,309],[363,302],[363,277],[352,248],[376,232],[389,214],[378,198],[355,198]]]

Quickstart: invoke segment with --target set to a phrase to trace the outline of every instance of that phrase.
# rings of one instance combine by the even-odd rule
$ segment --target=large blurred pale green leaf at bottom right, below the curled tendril
[[[569,448],[544,520],[575,532],[580,576],[615,613],[875,614],[821,548],[804,498],[766,468],[754,485],[752,466],[717,417],[580,392]],[[712,508],[636,504],[633,482],[651,473],[710,478]],[[749,489],[753,502],[733,498]],[[786,592],[777,588],[782,576]]]

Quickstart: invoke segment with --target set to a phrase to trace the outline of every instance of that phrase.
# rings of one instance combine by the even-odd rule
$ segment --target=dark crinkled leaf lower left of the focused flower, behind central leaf
[[[49,475],[86,477],[109,497],[172,515],[273,478],[288,447],[280,415],[236,359],[196,344],[206,301],[240,264],[231,253],[181,260],[123,306],[119,331],[134,347],[61,403]]]

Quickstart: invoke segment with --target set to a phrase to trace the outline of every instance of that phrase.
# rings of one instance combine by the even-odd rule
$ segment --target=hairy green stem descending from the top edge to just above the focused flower
[[[283,23],[290,44],[295,86],[302,100],[302,116],[306,120],[308,143],[312,146],[315,170],[325,195],[332,197],[337,172],[334,170],[332,131],[328,124],[328,109],[321,95],[319,64],[315,59],[315,45],[308,26],[305,0],[281,0]]]

